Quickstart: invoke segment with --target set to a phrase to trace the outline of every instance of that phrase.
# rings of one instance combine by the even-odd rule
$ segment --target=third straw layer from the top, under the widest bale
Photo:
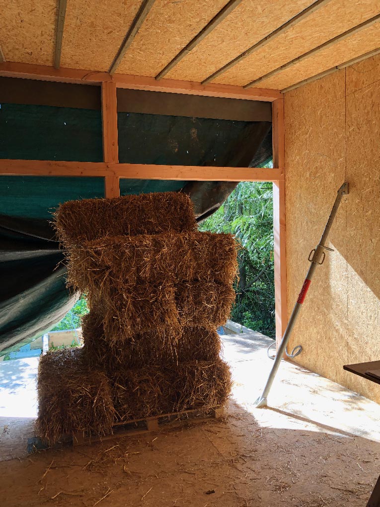
[[[184,326],[215,329],[225,324],[235,291],[217,282],[145,283],[120,285],[103,291],[102,299],[88,294],[91,308],[102,305],[104,334],[110,342],[133,341],[146,331],[179,332]]]

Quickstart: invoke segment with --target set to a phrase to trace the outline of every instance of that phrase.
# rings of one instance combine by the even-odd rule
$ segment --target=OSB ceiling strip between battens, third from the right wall
[[[203,81],[313,3],[312,0],[243,0],[166,76]]]

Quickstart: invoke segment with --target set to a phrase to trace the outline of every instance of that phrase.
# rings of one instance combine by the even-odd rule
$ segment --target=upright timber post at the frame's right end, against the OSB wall
[[[273,167],[285,177],[284,100],[272,103]],[[273,183],[273,234],[275,261],[276,344],[281,343],[288,321],[286,301],[285,179]]]

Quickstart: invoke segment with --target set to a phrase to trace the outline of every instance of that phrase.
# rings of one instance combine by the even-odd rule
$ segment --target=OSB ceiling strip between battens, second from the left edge
[[[61,67],[108,71],[142,0],[70,0]]]

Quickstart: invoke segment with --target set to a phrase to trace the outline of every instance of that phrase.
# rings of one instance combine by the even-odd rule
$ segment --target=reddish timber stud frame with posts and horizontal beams
[[[0,175],[103,176],[105,197],[120,195],[119,178],[177,179],[195,181],[273,182],[276,341],[287,324],[285,255],[284,99],[278,90],[243,89],[229,85],[201,85],[186,81],[141,76],[88,73],[76,69],[0,63],[0,76],[101,85],[103,162],[0,159]],[[273,169],[247,167],[199,167],[119,163],[117,88],[152,90],[272,102]]]

